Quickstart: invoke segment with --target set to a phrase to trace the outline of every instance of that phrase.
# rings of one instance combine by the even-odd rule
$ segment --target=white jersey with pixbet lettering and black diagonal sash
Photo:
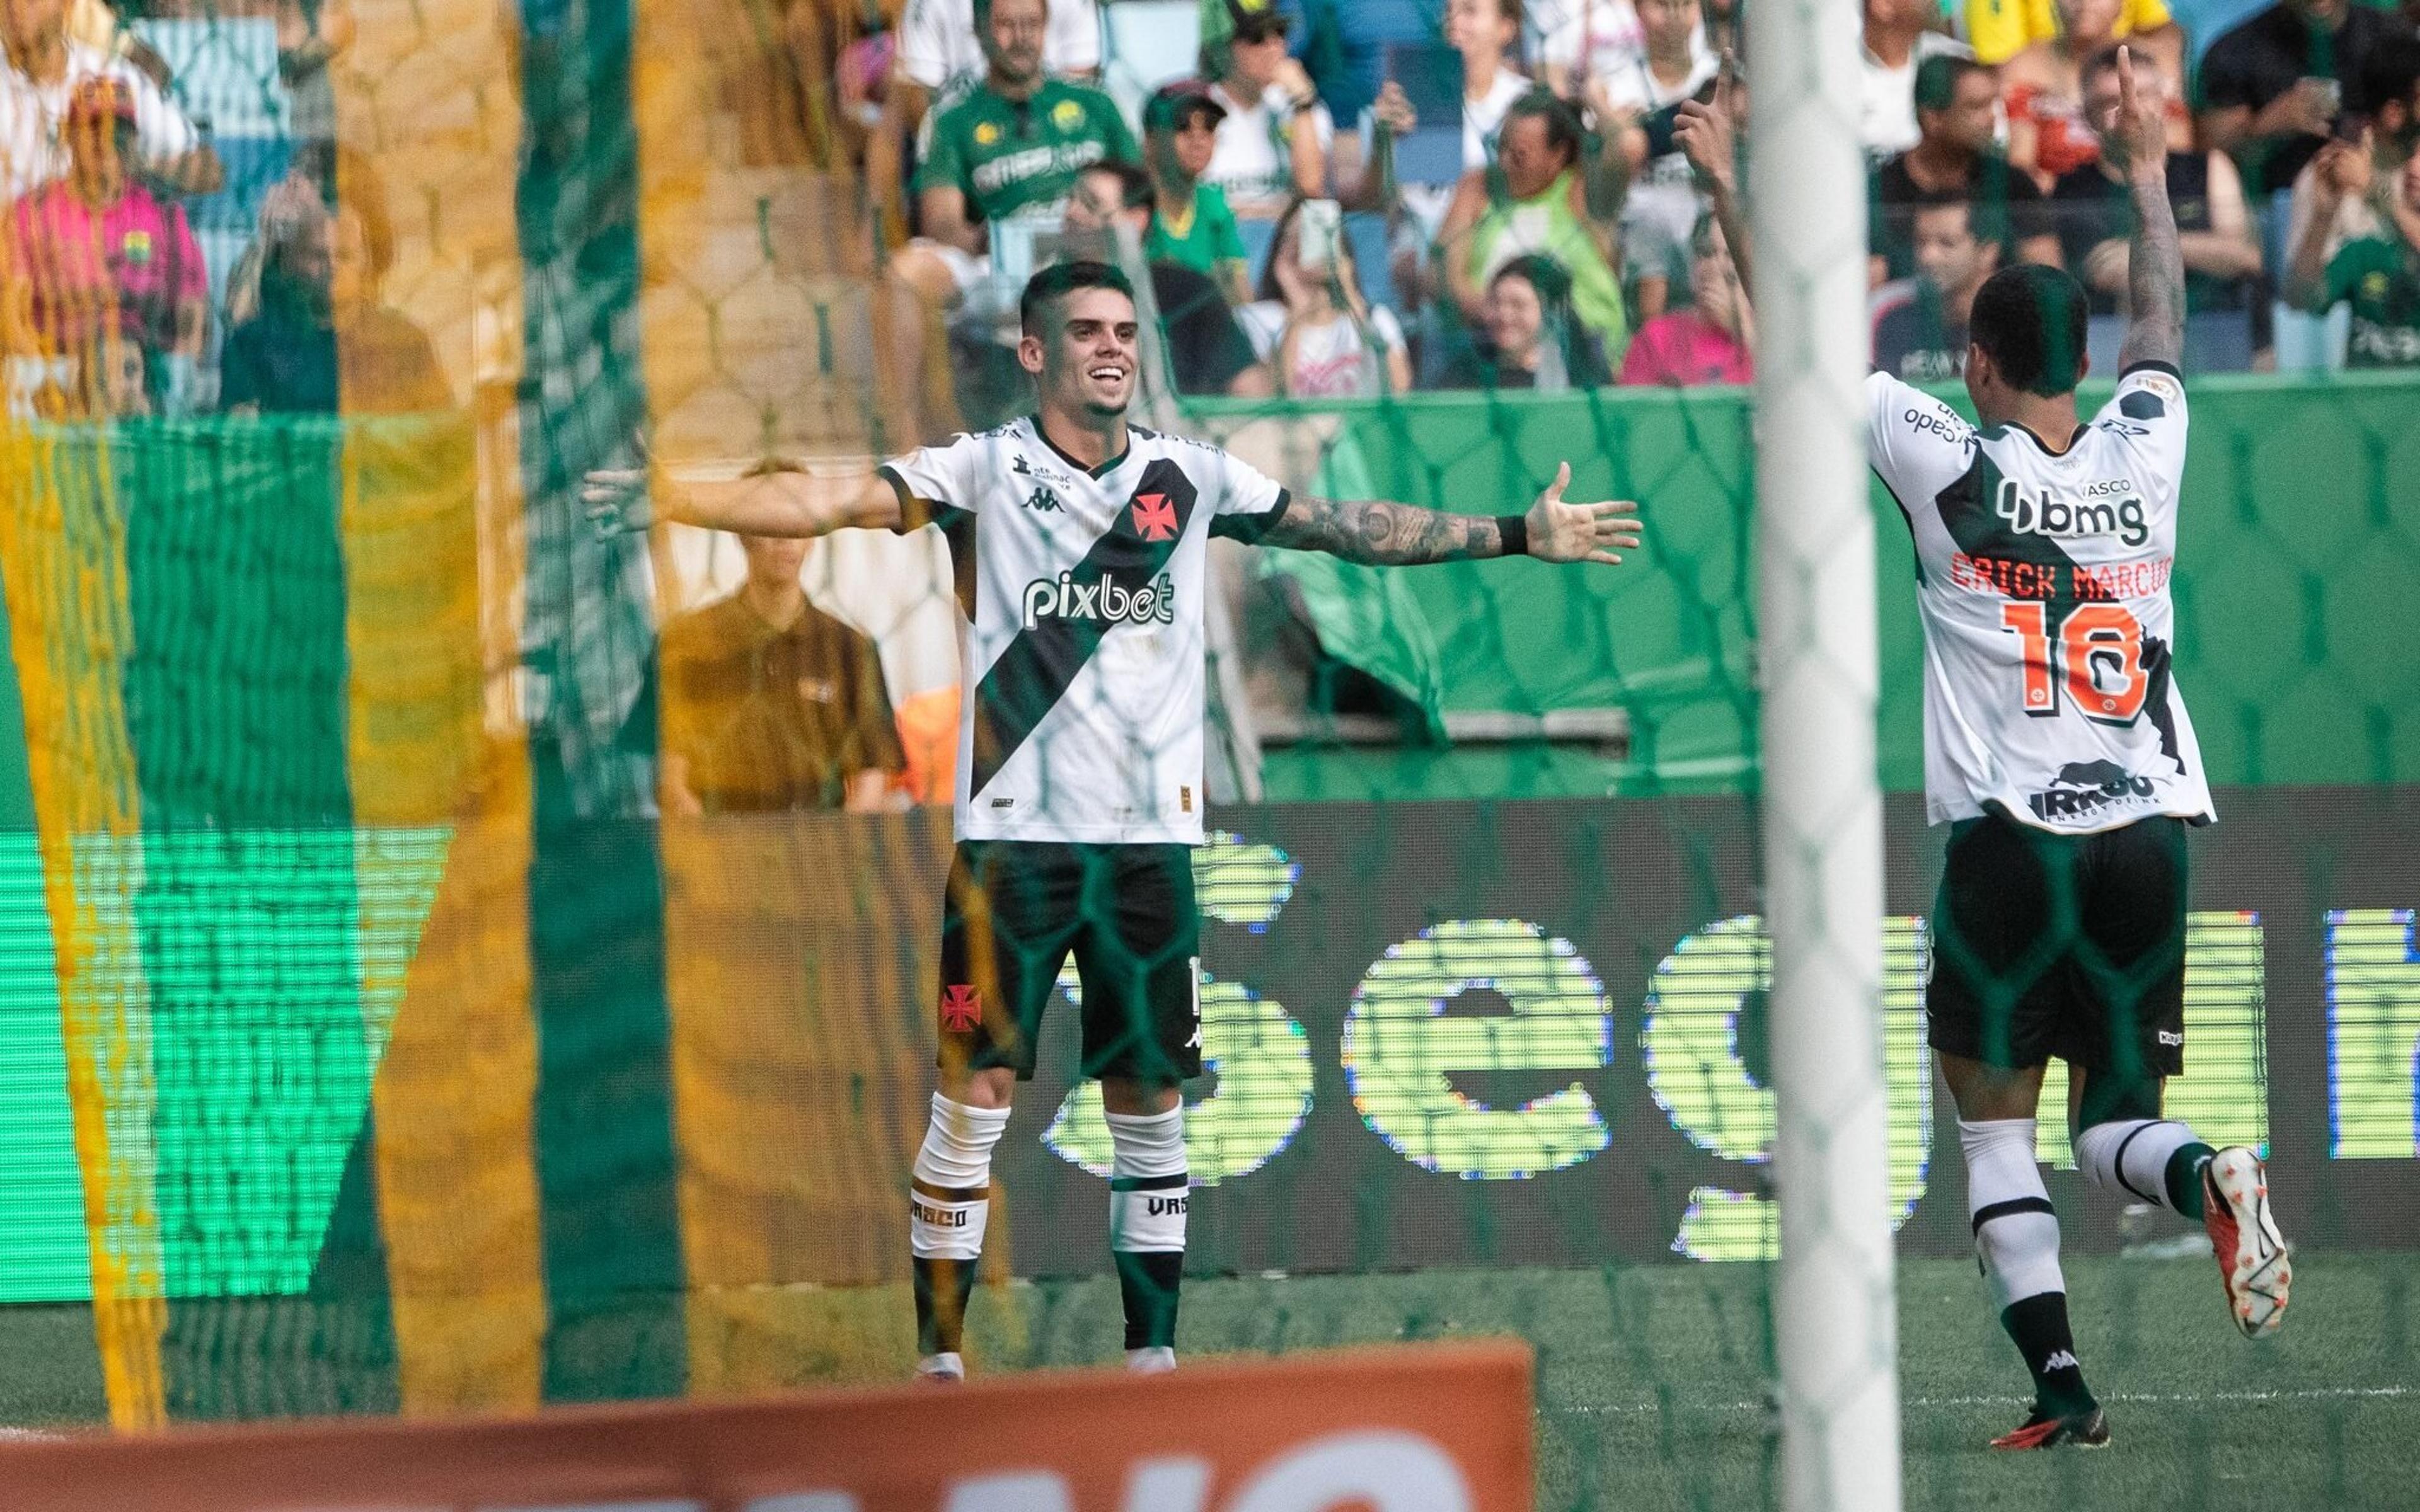
[[[903,527],[941,525],[963,610],[958,839],[1203,842],[1212,535],[1287,494],[1215,445],[1128,426],[1087,469],[1019,419],[883,464]]]

